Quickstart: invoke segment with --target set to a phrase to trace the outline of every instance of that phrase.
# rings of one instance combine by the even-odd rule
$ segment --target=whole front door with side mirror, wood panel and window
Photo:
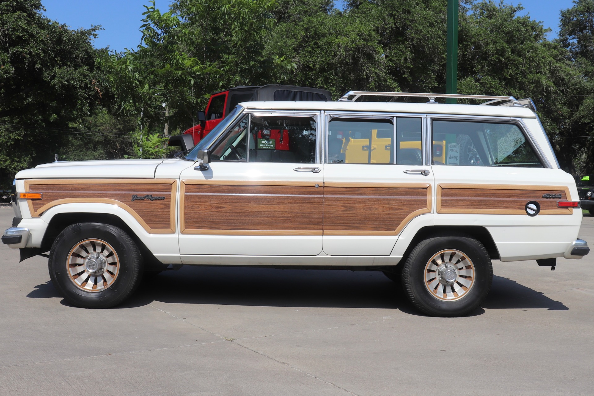
[[[317,255],[323,170],[316,113],[247,113],[181,174],[183,255]]]

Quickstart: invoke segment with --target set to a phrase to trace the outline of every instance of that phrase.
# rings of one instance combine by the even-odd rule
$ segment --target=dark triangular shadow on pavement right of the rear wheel
[[[486,309],[546,308],[552,311],[567,311],[562,302],[545,296],[542,292],[523,286],[514,280],[493,276],[491,292],[482,307]]]

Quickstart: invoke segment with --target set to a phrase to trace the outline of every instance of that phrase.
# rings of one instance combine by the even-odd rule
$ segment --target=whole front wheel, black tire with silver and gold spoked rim
[[[134,292],[141,277],[138,246],[124,230],[109,224],[66,227],[49,252],[49,275],[72,305],[109,308]]]

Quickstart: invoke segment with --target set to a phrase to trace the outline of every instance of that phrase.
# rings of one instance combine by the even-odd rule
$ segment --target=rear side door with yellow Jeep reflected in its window
[[[432,216],[424,118],[336,113],[326,119],[324,253],[390,255],[410,221]]]

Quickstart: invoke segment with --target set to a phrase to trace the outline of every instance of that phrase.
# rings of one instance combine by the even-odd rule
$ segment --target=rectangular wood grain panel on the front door
[[[182,181],[181,232],[201,235],[321,235],[323,188]],[[301,184],[301,183],[300,183]]]

